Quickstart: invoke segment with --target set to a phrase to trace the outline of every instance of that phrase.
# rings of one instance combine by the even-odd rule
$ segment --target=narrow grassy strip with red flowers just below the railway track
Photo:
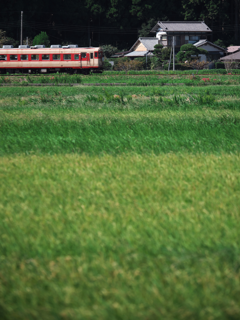
[[[201,72],[200,72],[201,71]],[[0,76],[0,86],[2,85],[23,85],[31,86],[34,84],[51,84],[54,86],[64,85],[83,85],[83,84],[118,84],[127,86],[162,86],[165,84],[184,84],[189,86],[206,85],[239,85],[240,70],[232,70],[233,73],[226,74],[225,69],[172,71],[164,74],[155,74],[150,71],[129,71],[125,75],[122,72],[105,71],[103,74],[91,75],[59,75],[59,74],[39,74],[39,75],[2,75]],[[148,72],[148,73],[147,73]],[[222,74],[225,72],[225,74]]]

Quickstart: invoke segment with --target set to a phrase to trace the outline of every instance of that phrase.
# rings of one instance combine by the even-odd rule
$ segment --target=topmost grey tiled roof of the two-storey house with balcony
[[[156,32],[162,28],[165,32],[182,31],[182,32],[210,32],[212,31],[204,21],[158,21],[151,32]]]

